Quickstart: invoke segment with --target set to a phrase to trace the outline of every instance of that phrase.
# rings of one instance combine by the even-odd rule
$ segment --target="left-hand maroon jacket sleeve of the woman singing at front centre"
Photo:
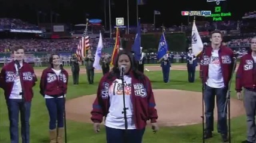
[[[98,85],[97,97],[96,97],[94,103],[92,104],[91,120],[94,123],[103,122],[103,116],[105,115],[105,113],[104,113],[105,104],[104,104],[104,101],[102,98],[103,97],[102,94],[106,94],[106,92],[108,92],[108,91],[105,91],[105,93],[103,92],[104,86],[106,86],[104,84],[106,84],[106,83],[103,83],[103,79],[101,79],[101,81]]]

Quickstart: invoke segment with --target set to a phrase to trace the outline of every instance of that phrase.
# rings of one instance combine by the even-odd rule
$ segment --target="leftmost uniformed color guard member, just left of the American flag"
[[[73,56],[70,59],[70,64],[71,64],[71,71],[72,71],[72,76],[73,76],[73,84],[78,85],[79,84],[79,61],[76,56]]]

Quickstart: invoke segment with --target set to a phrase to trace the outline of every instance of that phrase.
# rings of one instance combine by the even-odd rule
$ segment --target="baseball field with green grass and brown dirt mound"
[[[31,143],[49,142],[49,116],[44,98],[39,94],[41,72],[45,67],[35,68],[38,77],[34,87],[34,98],[31,107]],[[149,77],[158,110],[160,129],[155,134],[147,126],[144,143],[182,143],[202,142],[202,94],[201,80],[198,71],[194,83],[188,82],[185,64],[173,64],[170,71],[170,82],[164,83],[161,67],[145,65],[149,71],[144,73]],[[106,142],[104,125],[101,131],[95,133],[90,120],[92,102],[95,99],[101,71],[95,71],[95,82],[89,85],[85,67],[80,67],[79,85],[73,85],[70,67],[65,67],[70,73],[66,102],[67,139],[68,143],[103,143]],[[242,142],[246,139],[246,116],[243,102],[236,100],[234,91],[234,76],[231,84],[231,142]],[[216,107],[215,107],[215,121]],[[149,124],[150,125],[150,124]],[[0,142],[10,142],[9,120],[4,93],[0,89]],[[221,136],[215,130],[213,138],[206,142],[221,142]]]

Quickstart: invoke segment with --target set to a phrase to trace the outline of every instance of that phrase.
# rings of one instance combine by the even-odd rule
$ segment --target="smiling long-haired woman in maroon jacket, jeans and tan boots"
[[[46,100],[46,107],[50,116],[50,143],[62,143],[64,140],[64,111],[67,84],[68,72],[63,69],[60,56],[52,54],[49,59],[49,67],[44,69],[40,82],[40,94]]]

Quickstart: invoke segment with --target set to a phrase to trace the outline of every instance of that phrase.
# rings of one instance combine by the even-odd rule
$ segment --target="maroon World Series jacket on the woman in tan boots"
[[[59,79],[58,79],[59,78]],[[40,81],[40,94],[49,96],[62,96],[67,94],[68,72],[62,69],[58,77],[52,68],[43,70]]]

